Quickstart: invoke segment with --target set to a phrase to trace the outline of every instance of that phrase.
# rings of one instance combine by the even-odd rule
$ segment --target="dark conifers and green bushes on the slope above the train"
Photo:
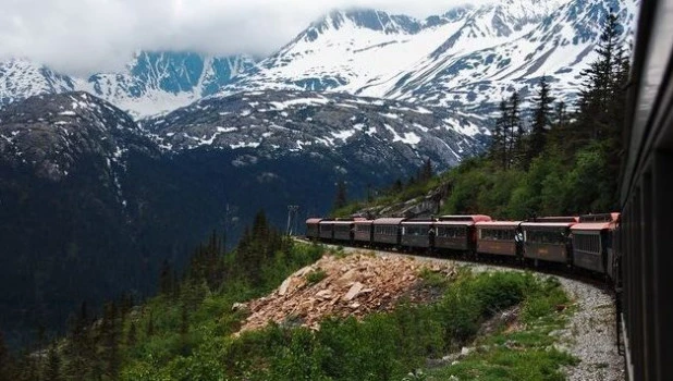
[[[406,201],[439,187],[445,189],[439,210],[443,214],[525,219],[615,210],[629,72],[628,54],[617,40],[620,29],[610,15],[598,59],[583,73],[573,111],[554,102],[553,84],[542,77],[530,99],[529,121],[521,115],[523,100],[516,91],[502,100],[491,147],[484,156],[439,176],[418,176],[406,185],[397,181],[382,189],[381,197],[352,202],[334,216]]]

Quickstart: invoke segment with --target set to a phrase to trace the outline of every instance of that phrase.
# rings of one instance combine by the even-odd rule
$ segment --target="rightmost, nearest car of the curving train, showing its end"
[[[616,228],[620,213],[588,214],[579,218],[573,225],[573,265],[601,274],[611,274],[612,232]]]

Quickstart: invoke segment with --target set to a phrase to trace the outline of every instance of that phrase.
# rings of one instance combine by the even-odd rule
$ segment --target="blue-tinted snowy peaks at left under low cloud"
[[[254,64],[255,60],[245,54],[138,52],[121,72],[76,78],[13,59],[0,62],[0,105],[35,95],[81,90],[140,118],[172,111],[216,94]]]

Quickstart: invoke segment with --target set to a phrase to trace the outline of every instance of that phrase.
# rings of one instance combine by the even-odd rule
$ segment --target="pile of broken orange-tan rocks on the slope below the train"
[[[270,295],[250,302],[250,316],[241,332],[270,321],[317,330],[325,317],[362,318],[391,310],[403,296],[412,303],[426,302],[431,293],[421,287],[423,268],[445,276],[455,274],[449,263],[421,263],[404,257],[325,256],[290,275]]]

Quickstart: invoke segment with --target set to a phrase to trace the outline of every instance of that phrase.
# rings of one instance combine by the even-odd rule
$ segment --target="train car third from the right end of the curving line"
[[[477,253],[519,257],[522,221],[477,222]]]

